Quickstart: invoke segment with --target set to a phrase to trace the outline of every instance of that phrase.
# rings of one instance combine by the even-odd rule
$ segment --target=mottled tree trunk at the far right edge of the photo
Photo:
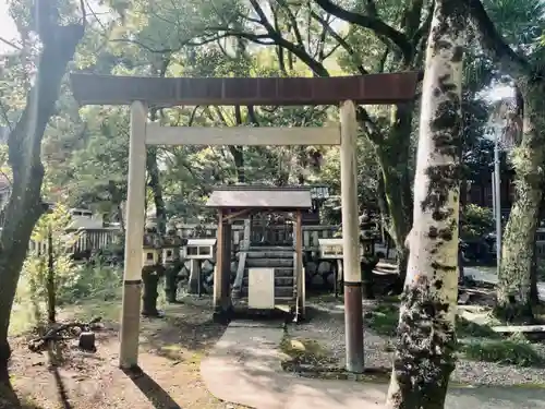
[[[533,320],[532,263],[542,203],[545,158],[545,83],[518,84],[524,99],[522,141],[513,152],[516,200],[501,243],[496,314],[513,322]]]

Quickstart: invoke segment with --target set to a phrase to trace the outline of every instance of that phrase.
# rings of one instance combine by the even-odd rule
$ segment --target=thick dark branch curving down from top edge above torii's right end
[[[382,20],[344,10],[332,3],[330,0],[315,1],[329,14],[332,14],[336,17],[339,17],[348,23],[359,25],[360,27],[370,28],[374,31],[378,36],[388,38],[399,48],[405,61],[410,61],[412,59],[414,50],[407,36],[403,33],[398,32],[396,28],[389,26]]]

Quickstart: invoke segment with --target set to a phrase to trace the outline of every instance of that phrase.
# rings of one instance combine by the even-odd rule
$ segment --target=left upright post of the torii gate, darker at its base
[[[146,118],[147,106],[141,101],[134,101],[131,106],[125,267],[119,347],[119,365],[122,369],[134,369],[138,365],[142,245],[146,189]]]

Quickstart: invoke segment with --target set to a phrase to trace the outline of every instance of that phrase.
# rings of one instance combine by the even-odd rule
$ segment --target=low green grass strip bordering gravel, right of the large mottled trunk
[[[489,340],[468,342],[460,351],[470,360],[513,364],[519,366],[543,366],[542,357],[530,342],[523,340]]]

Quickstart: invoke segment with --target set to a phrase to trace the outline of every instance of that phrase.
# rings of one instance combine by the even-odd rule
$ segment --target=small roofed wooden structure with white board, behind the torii
[[[311,191],[299,187],[229,185],[211,193],[207,207],[218,210],[216,273],[214,281],[215,312],[223,314],[232,309],[231,300],[231,226],[235,220],[250,219],[250,231],[239,254],[262,254],[262,268],[239,267],[235,282],[246,282],[250,309],[274,309],[279,302],[296,311],[304,310],[302,215],[312,207]],[[281,276],[287,268],[276,268],[274,252],[288,254],[292,276]],[[245,257],[244,257],[245,260]],[[255,257],[252,257],[255,261]],[[270,262],[270,263],[269,263]],[[239,257],[239,264],[244,263]],[[255,267],[255,266],[254,266]],[[240,275],[240,277],[239,277]],[[244,275],[247,275],[244,276]],[[247,279],[245,279],[247,278]],[[281,286],[279,282],[288,282]],[[237,285],[237,284],[235,284]]]

